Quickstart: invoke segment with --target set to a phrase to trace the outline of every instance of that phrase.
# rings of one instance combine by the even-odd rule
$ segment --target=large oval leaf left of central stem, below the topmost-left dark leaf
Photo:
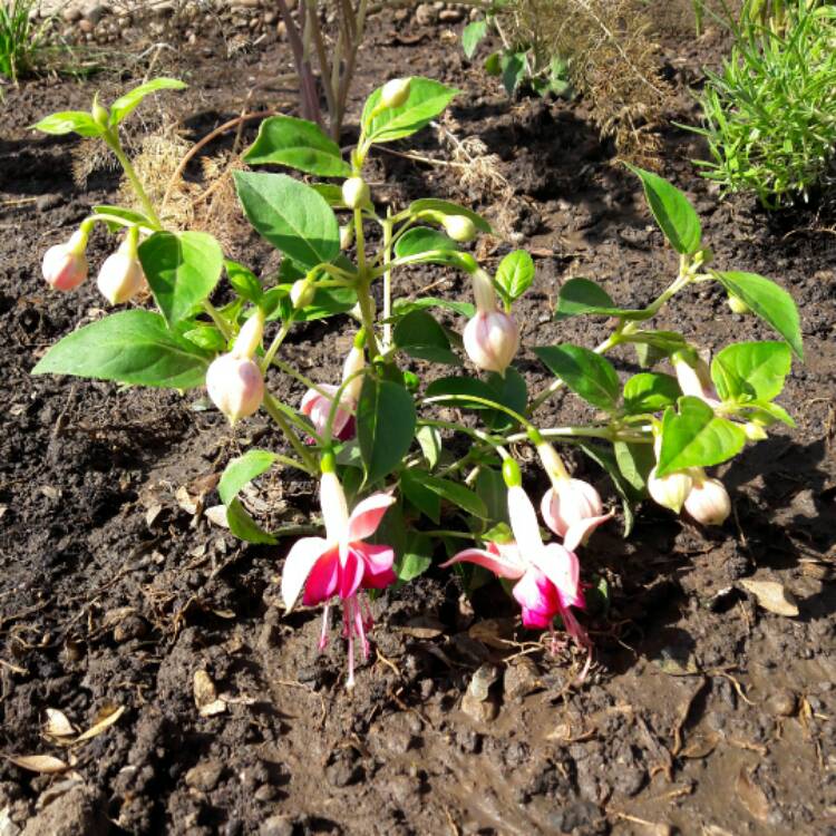
[[[244,214],[278,250],[309,269],[339,254],[337,216],[313,188],[286,174],[233,176]]]

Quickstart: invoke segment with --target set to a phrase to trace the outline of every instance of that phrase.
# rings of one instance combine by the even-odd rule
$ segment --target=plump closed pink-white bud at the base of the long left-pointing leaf
[[[256,308],[232,350],[213,360],[206,371],[208,396],[232,425],[256,412],[264,399],[264,376],[253,360],[263,333],[264,313]]]

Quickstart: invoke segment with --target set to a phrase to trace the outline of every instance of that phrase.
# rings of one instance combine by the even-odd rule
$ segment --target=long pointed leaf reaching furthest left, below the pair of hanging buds
[[[166,328],[152,311],[119,311],[52,346],[32,375],[75,375],[137,386],[204,385],[212,356]]]

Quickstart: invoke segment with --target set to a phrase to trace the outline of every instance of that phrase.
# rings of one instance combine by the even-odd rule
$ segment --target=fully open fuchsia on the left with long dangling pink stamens
[[[322,457],[320,505],[325,523],[324,537],[303,537],[290,550],[282,572],[282,600],[286,610],[293,609],[304,587],[305,606],[325,604],[320,650],[328,641],[330,601],[338,595],[342,601],[342,634],[348,640],[349,673],[346,687],[354,687],[354,639],[360,641],[363,659],[368,658],[367,632],[372,626],[368,603],[362,590],[382,590],[395,583],[392,570],[395,552],[390,546],[372,545],[364,541],[377,531],[395,498],[378,493],[360,502],[349,515],[346,494],[333,473],[333,456]]]

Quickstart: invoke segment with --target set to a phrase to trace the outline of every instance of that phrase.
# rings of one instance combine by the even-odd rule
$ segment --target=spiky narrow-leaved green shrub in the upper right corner
[[[836,9],[796,0],[780,27],[743,14],[721,72],[701,95],[710,161],[725,193],[776,208],[825,185],[836,147]]]

